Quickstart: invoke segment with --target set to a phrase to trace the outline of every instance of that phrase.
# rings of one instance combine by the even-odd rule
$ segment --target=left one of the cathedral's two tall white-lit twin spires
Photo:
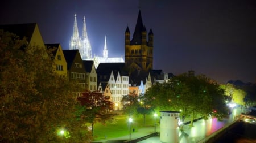
[[[78,49],[80,53],[82,53],[81,49],[81,42],[79,38],[79,30],[77,28],[77,21],[76,21],[76,14],[75,14],[75,21],[73,27],[73,35],[71,37],[71,41],[69,42],[69,50]]]

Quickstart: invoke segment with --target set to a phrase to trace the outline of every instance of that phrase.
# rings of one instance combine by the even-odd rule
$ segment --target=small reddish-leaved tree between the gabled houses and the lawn
[[[109,97],[98,91],[86,90],[77,99],[85,107],[81,113],[81,118],[92,125],[92,133],[94,123],[101,122],[104,124],[107,120],[111,121],[117,116],[112,112],[114,103],[109,101]]]

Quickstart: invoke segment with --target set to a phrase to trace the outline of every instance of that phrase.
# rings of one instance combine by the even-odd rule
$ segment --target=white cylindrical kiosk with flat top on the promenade
[[[179,142],[178,111],[160,111],[160,141],[166,143]]]

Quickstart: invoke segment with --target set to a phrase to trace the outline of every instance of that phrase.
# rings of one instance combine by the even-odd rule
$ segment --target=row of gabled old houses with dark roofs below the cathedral
[[[69,81],[79,83],[84,90],[99,91],[110,97],[115,109],[121,109],[122,96],[144,94],[155,83],[163,83],[172,75],[162,70],[127,71],[125,63],[100,63],[96,69],[93,60],[82,60],[79,50],[63,50],[60,44],[44,44],[38,24],[0,25],[3,31],[26,37],[30,45],[52,49],[55,71]],[[77,92],[80,96],[81,92]]]

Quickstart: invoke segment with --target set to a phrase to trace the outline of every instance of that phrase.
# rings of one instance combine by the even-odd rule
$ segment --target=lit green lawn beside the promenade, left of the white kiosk
[[[156,121],[158,122],[158,120]],[[155,120],[153,116],[146,115],[145,125],[154,125]],[[131,129],[138,131],[138,128],[143,127],[143,116],[137,115],[133,117],[133,122],[131,122]],[[129,134],[129,122],[128,117],[119,114],[115,118],[115,123],[106,122],[106,124],[96,123],[94,124],[94,140],[102,140],[105,138],[115,138],[122,137]]]

